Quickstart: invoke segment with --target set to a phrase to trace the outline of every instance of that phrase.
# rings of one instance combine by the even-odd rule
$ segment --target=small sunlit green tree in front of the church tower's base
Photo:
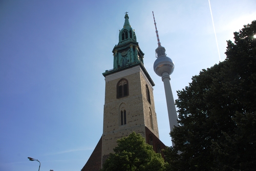
[[[114,152],[103,163],[102,171],[164,170],[161,154],[155,153],[152,145],[135,132],[118,139]]]

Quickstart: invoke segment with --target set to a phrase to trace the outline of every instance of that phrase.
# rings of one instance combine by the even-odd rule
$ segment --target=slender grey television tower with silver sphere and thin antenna
[[[178,117],[177,117],[176,107],[174,103],[173,92],[172,92],[172,88],[170,87],[170,75],[174,71],[174,63],[172,59],[166,56],[165,48],[161,46],[154,12],[152,11],[152,13],[154,17],[154,24],[156,28],[157,41],[158,41],[158,47],[156,48],[157,60],[154,62],[154,71],[159,77],[162,77],[166,103],[167,103],[168,116],[169,116],[170,131],[173,131],[174,126],[176,127],[178,126],[178,123],[177,123]],[[173,146],[174,145],[175,144],[173,142]]]

